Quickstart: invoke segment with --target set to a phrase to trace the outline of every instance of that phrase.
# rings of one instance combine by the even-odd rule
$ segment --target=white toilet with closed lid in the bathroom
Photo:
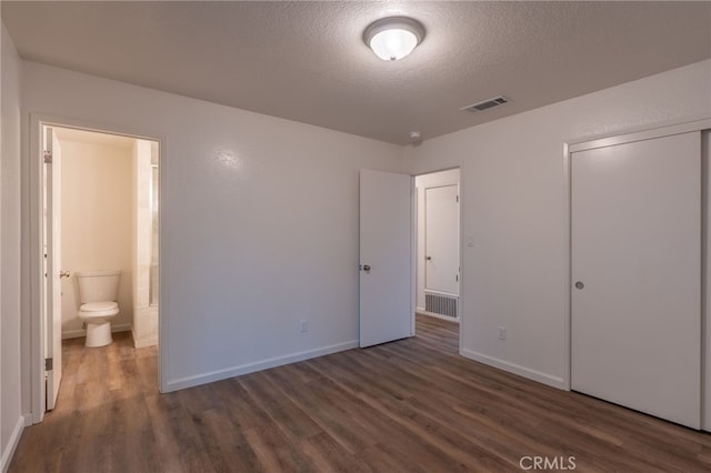
[[[121,271],[82,271],[79,279],[79,319],[87,328],[87,346],[111,343],[111,319],[119,313],[119,278]]]

